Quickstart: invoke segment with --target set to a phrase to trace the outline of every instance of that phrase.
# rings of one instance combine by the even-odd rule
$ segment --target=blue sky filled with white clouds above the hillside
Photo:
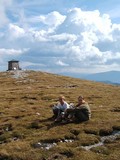
[[[119,0],[0,0],[0,71],[8,61],[58,74],[120,71]]]

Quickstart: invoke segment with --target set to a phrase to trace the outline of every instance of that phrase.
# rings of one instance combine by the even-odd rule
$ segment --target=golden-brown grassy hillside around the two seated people
[[[100,134],[120,129],[120,86],[34,71],[18,79],[12,74],[0,73],[0,159],[120,159],[120,139],[91,151],[80,147],[98,142]],[[50,105],[61,94],[75,104],[82,94],[90,104],[92,119],[81,124],[53,124]],[[58,142],[65,138],[75,141]],[[49,151],[34,148],[40,141],[58,145]]]

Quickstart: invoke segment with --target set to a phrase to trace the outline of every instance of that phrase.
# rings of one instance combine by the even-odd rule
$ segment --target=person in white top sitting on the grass
[[[59,97],[59,103],[53,107],[53,114],[55,122],[61,122],[64,118],[66,109],[69,108],[69,104],[65,101],[64,96]]]

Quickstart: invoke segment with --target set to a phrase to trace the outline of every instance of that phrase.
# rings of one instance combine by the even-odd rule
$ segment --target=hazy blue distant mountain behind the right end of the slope
[[[82,77],[87,80],[94,80],[109,84],[118,84],[120,85],[120,71],[109,71],[109,72],[102,72],[96,74],[89,74],[87,76]]]

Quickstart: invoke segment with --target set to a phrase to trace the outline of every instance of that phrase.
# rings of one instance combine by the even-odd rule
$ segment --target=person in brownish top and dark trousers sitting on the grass
[[[83,122],[91,118],[91,110],[83,96],[78,97],[78,104],[65,111],[64,119],[66,122]]]

